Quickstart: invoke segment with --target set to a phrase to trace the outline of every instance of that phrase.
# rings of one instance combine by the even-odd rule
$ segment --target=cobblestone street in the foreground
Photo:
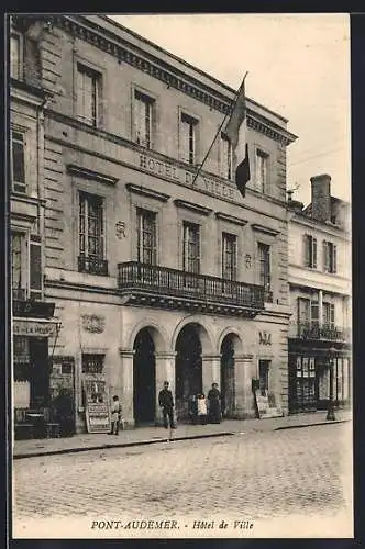
[[[96,520],[90,536],[101,519],[120,520],[119,531],[141,519],[177,520],[177,530],[219,518],[324,520],[350,508],[350,449],[349,427],[330,425],[27,458],[13,464],[14,528],[26,537],[56,517]]]

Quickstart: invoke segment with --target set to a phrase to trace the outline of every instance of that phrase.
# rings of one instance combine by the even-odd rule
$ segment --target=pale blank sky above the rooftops
[[[351,200],[350,19],[346,14],[123,14],[117,22],[288,119],[287,188],[310,177]]]

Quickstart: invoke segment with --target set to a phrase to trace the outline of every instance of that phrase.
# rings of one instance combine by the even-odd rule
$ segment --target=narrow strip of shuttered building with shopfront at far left
[[[10,35],[10,246],[13,402],[42,407],[48,400],[49,338],[55,304],[44,296],[44,107],[34,33]]]

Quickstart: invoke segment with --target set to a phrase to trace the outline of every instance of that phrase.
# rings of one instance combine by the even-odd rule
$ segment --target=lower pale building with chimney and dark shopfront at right
[[[328,406],[330,368],[338,405],[351,400],[350,204],[331,177],[311,178],[311,203],[289,200],[289,411]]]

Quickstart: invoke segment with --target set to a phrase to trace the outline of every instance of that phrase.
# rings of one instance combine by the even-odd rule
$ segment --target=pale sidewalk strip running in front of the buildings
[[[328,422],[325,416],[327,412],[321,411],[266,419],[224,419],[217,425],[178,425],[174,433],[174,440],[221,437],[240,433],[265,433],[312,425],[333,425],[334,423],[350,422],[352,413],[343,410],[336,411],[334,422]],[[13,458],[158,444],[166,440],[166,434],[167,432],[163,427],[139,427],[121,430],[118,437],[108,434],[82,434],[68,438],[15,440],[13,442]]]

